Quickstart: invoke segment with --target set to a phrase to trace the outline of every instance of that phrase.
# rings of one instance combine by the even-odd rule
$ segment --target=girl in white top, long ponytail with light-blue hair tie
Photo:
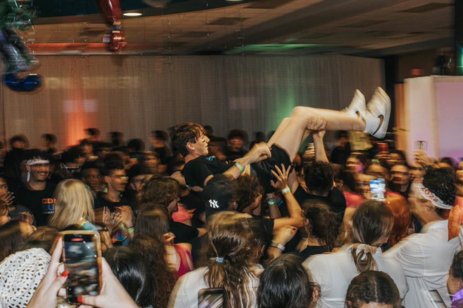
[[[228,308],[255,308],[262,267],[251,263],[261,252],[246,217],[221,211],[210,217],[206,267],[183,275],[175,284],[169,307],[197,308],[198,293],[205,288],[223,288]],[[261,247],[260,247],[261,248]]]

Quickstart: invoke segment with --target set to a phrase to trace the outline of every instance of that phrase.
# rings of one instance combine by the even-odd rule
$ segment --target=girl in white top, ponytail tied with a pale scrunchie
[[[402,267],[396,260],[386,258],[380,248],[387,242],[393,225],[393,215],[383,202],[366,201],[352,216],[354,244],[341,252],[315,255],[304,261],[320,286],[317,307],[343,308],[349,283],[366,271],[387,273],[396,283],[400,298],[405,296],[408,287]]]

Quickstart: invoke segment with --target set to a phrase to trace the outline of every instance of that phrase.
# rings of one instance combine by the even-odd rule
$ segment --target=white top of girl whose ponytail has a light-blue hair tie
[[[253,271],[256,275],[260,275],[262,268],[255,266]],[[198,308],[198,292],[203,288],[208,288],[204,281],[206,272],[207,267],[200,267],[180,277],[170,294],[169,308]],[[257,307],[258,287],[259,278],[251,278],[248,288],[251,291],[249,302],[252,308]]]

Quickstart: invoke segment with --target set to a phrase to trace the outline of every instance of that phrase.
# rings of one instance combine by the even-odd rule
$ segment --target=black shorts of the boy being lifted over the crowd
[[[272,145],[270,152],[272,153],[272,157],[251,164],[251,174],[259,177],[260,184],[264,188],[265,194],[270,194],[276,190],[270,184],[270,180],[273,180],[274,182],[276,181],[271,172],[271,170],[275,170],[275,165],[279,168],[281,168],[281,164],[284,165],[284,168],[291,166],[290,157],[285,150],[274,144]]]

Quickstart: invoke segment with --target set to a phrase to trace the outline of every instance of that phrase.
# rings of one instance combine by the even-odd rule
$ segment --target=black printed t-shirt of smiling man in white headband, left
[[[47,182],[42,190],[29,190],[24,185],[14,191],[14,203],[22,204],[34,215],[37,226],[46,226],[49,218],[55,213],[55,202],[53,194],[56,185]]]

